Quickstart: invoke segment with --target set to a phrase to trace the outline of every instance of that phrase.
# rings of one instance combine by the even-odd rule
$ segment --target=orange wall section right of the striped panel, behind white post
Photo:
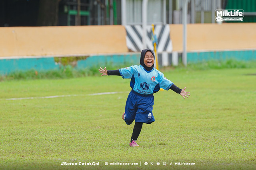
[[[182,51],[182,24],[170,25],[173,51]],[[256,49],[256,23],[187,25],[187,51]]]

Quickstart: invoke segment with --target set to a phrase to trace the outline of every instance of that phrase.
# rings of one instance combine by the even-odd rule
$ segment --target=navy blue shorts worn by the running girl
[[[132,124],[134,120],[147,124],[154,122],[153,105],[153,94],[143,95],[132,90],[126,100],[124,121],[127,125]]]

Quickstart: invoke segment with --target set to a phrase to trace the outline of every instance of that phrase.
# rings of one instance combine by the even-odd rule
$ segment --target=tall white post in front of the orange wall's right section
[[[187,20],[188,20],[188,0],[183,1],[182,20],[183,20],[183,53],[182,62],[187,66]]]

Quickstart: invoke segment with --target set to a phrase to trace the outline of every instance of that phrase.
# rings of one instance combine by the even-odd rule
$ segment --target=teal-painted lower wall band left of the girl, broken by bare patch
[[[128,55],[95,55],[85,60],[77,61],[76,68],[82,69],[86,67],[98,66],[127,66],[140,64],[140,54]],[[6,75],[10,72],[25,70],[54,70],[59,69],[60,64],[54,61],[54,57],[49,58],[28,58],[28,59],[0,59],[0,75]]]

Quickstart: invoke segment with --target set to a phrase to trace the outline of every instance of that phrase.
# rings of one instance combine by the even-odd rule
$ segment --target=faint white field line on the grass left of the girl
[[[97,96],[97,95],[118,94],[118,93],[127,93],[127,92],[104,92],[104,93],[93,93],[93,94],[68,94],[68,95],[59,95],[59,96],[9,98],[9,99],[6,99],[6,100],[50,99],[50,98],[64,98],[64,97],[73,97],[73,96]],[[4,99],[0,99],[0,100],[4,100]]]

